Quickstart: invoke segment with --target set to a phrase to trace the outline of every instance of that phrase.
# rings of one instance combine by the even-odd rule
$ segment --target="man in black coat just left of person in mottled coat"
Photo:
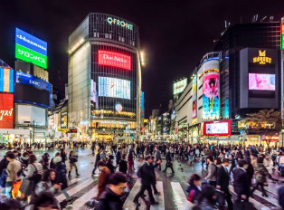
[[[233,187],[235,193],[238,195],[238,201],[248,201],[250,196],[250,179],[246,169],[248,162],[244,159],[239,160],[239,167],[233,170]]]

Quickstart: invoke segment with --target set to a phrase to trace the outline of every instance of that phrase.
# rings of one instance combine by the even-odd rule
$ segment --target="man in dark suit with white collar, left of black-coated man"
[[[228,209],[232,210],[232,196],[229,190],[230,173],[227,167],[229,167],[230,161],[225,158],[222,162],[221,167],[217,171],[217,189],[220,189],[225,194],[225,199],[228,204]]]

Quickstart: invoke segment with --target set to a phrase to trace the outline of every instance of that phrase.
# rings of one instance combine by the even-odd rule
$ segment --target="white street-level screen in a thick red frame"
[[[231,135],[231,120],[204,122],[205,136]]]

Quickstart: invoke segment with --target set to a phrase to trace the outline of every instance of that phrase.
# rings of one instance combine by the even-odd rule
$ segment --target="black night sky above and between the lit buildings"
[[[172,83],[189,77],[205,52],[220,38],[224,20],[231,24],[284,15],[283,0],[2,0],[0,59],[14,67],[14,28],[48,43],[48,71],[54,88],[67,83],[68,36],[87,14],[113,14],[138,25],[147,66],[143,68],[146,115],[166,107]]]

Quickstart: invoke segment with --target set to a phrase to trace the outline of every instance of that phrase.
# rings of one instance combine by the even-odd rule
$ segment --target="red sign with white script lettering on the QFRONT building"
[[[99,51],[99,65],[131,70],[131,57],[118,52]]]

